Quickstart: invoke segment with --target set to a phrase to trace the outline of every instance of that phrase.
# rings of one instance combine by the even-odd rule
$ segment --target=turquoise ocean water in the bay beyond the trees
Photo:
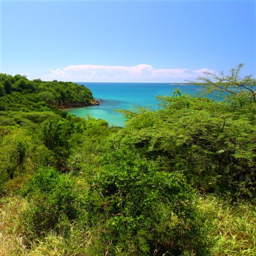
[[[160,108],[156,95],[172,96],[179,88],[182,94],[196,96],[201,88],[194,85],[157,84],[157,83],[77,83],[92,91],[94,98],[103,100],[99,106],[71,108],[68,113],[77,117],[104,119],[109,125],[124,126],[125,118],[117,109],[132,110],[139,106]]]

